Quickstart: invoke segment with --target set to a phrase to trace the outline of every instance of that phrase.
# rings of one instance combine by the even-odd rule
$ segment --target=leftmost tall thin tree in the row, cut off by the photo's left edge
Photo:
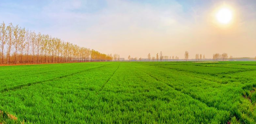
[[[4,64],[4,46],[6,44],[6,28],[5,28],[5,23],[3,22],[0,25],[0,41],[1,41],[1,51],[2,51],[2,64]]]

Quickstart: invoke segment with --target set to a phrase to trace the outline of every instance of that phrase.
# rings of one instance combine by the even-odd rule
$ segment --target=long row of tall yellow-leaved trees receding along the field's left
[[[0,58],[1,64],[119,61],[118,54],[103,54],[4,22],[0,25]]]

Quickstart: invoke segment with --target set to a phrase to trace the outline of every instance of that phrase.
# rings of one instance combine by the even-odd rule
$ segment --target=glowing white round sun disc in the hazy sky
[[[228,8],[221,8],[216,13],[216,19],[221,24],[228,24],[232,20],[232,11]]]

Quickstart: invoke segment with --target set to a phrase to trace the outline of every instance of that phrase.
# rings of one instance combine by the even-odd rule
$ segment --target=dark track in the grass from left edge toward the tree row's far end
[[[82,73],[82,72],[85,72],[85,71],[101,68],[101,67],[107,66],[107,65],[110,65],[110,64],[106,64],[106,65],[102,65],[102,66],[99,66],[99,67],[82,70],[82,71],[79,71],[79,72],[71,73],[71,74],[68,74],[68,75],[63,75],[63,76],[56,77],[56,78],[49,79],[49,80],[35,81],[35,82],[21,84],[21,85],[10,87],[10,88],[5,88],[5,89],[1,90],[0,93],[8,92],[10,90],[14,91],[14,90],[22,89],[23,87],[28,87],[28,86],[35,85],[35,84],[44,83],[44,82],[47,82],[47,81],[53,81],[53,80],[57,80],[57,79],[66,78],[66,77],[73,76],[73,75],[76,75],[76,74],[79,74],[79,73]]]

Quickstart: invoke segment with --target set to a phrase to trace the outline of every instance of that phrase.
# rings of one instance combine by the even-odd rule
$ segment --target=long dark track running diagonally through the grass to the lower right
[[[135,67],[135,68],[136,68],[136,67]],[[136,68],[136,69],[138,69],[138,68]],[[140,69],[138,69],[138,70],[140,70]],[[140,70],[140,71],[142,71],[142,70]],[[144,72],[144,71],[142,71],[142,72]],[[149,75],[151,78],[155,79],[156,81],[159,81],[159,82],[161,82],[161,83],[164,83],[165,85],[167,85],[167,86],[173,88],[175,91],[178,91],[178,92],[180,92],[180,93],[182,93],[182,94],[184,94],[184,95],[188,95],[188,96],[191,97],[192,99],[197,100],[197,101],[199,101],[199,102],[205,104],[205,105],[208,106],[208,107],[215,108],[216,110],[219,110],[219,111],[226,111],[226,110],[218,109],[218,108],[216,108],[215,106],[209,105],[208,103],[202,101],[200,98],[196,98],[196,97],[194,97],[194,96],[191,96],[190,94],[184,93],[184,92],[182,92],[180,89],[174,88],[174,86],[172,86],[172,85],[170,85],[170,84],[168,84],[168,83],[162,82],[162,81],[158,80],[157,78],[155,78],[154,76],[152,76],[152,75],[150,75],[150,74],[148,74],[148,73],[146,73],[146,72],[144,72],[144,73],[147,74],[147,75]]]

